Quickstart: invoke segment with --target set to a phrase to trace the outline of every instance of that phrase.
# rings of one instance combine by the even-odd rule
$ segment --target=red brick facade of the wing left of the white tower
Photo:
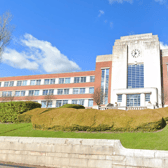
[[[95,71],[85,71],[85,72],[72,72],[72,73],[59,73],[59,74],[44,74],[44,75],[30,75],[30,76],[15,76],[15,77],[3,77],[0,78],[0,82],[5,81],[22,81],[22,80],[38,80],[38,79],[56,79],[56,78],[68,78],[68,77],[88,77],[95,76],[95,82],[85,82],[85,83],[68,83],[68,84],[49,84],[49,85],[27,85],[27,86],[12,86],[12,87],[0,87],[0,92],[2,95],[3,91],[23,91],[23,90],[44,90],[44,89],[66,89],[66,88],[89,88],[89,87],[100,87],[101,86],[101,69],[109,68],[109,90],[108,90],[108,103],[110,102],[111,93],[111,71],[112,71],[112,61],[107,62],[97,62]],[[93,99],[93,94],[68,94],[68,95],[54,95],[52,99],[54,100],[64,100],[64,99]],[[45,96],[17,96],[13,100],[45,100]],[[0,101],[4,101],[3,97],[0,97]],[[94,103],[94,105],[96,105]]]

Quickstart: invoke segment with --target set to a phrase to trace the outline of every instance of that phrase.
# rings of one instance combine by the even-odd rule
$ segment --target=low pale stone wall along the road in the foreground
[[[119,140],[0,137],[0,161],[59,168],[168,168],[168,151]]]

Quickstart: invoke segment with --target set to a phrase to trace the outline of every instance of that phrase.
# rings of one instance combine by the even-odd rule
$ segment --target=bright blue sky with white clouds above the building
[[[153,33],[168,48],[167,0],[1,0],[12,40],[0,77],[95,70],[121,36]]]

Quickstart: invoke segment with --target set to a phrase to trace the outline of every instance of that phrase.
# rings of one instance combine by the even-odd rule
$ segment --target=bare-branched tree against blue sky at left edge
[[[4,13],[0,16],[0,58],[4,51],[4,48],[11,41],[11,35],[14,27],[10,25],[12,15],[10,12]]]

